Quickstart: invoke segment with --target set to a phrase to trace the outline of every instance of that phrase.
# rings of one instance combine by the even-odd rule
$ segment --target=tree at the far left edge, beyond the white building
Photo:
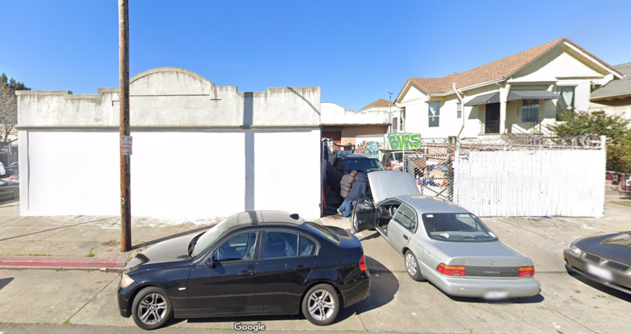
[[[0,75],[0,139],[2,142],[10,142],[8,137],[14,133],[15,125],[18,125],[18,97],[16,90],[31,90],[24,83],[8,78],[6,74]],[[15,141],[13,139],[11,141]]]

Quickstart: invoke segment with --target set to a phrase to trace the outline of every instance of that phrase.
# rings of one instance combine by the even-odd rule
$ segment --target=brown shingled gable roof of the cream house
[[[534,60],[538,59],[548,51],[552,50],[562,43],[568,43],[570,46],[574,46],[581,52],[585,53],[589,57],[592,57],[596,62],[601,63],[606,69],[617,74],[622,77],[623,74],[620,73],[616,68],[611,67],[611,65],[603,62],[595,55],[592,55],[587,50],[581,48],[576,45],[576,43],[562,37],[560,39],[555,39],[554,41],[550,41],[548,43],[543,43],[540,46],[536,46],[534,48],[530,48],[528,50],[522,51],[520,53],[515,53],[514,55],[510,55],[508,57],[504,57],[500,60],[496,60],[494,62],[489,62],[488,64],[484,64],[480,67],[476,67],[475,69],[470,69],[468,71],[462,73],[454,73],[449,74],[449,76],[444,76],[442,78],[409,78],[408,82],[414,84],[417,88],[423,90],[429,94],[440,94],[446,92],[452,92],[454,88],[452,87],[452,83],[456,82],[459,85],[459,88],[468,88],[473,85],[480,85],[484,83],[491,83],[493,81],[502,81],[510,76],[513,76],[517,71],[523,69],[530,64]],[[397,99],[401,96],[401,93],[407,87],[407,83],[399,92]]]

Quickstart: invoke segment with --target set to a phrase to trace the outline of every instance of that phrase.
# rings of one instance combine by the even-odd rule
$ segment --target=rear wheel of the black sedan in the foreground
[[[313,286],[302,298],[302,314],[317,326],[327,326],[335,321],[341,306],[337,291],[330,284]]]

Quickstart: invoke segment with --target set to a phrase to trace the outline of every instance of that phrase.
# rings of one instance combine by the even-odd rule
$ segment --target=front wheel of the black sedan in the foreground
[[[171,299],[157,286],[143,288],[134,298],[132,316],[136,325],[144,330],[161,328],[173,316]]]

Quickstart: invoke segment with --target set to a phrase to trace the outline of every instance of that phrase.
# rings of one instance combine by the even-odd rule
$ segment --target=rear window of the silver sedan
[[[496,235],[473,214],[423,214],[427,235],[449,242],[487,242]]]

